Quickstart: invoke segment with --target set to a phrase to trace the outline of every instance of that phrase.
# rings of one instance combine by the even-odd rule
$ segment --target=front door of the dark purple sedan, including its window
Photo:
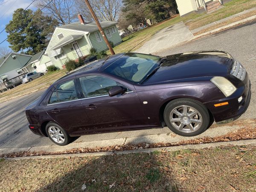
[[[128,91],[122,95],[110,97],[108,91],[112,87],[123,85],[100,75],[79,76],[78,80],[92,132],[145,126],[146,117],[134,86],[127,87]]]

